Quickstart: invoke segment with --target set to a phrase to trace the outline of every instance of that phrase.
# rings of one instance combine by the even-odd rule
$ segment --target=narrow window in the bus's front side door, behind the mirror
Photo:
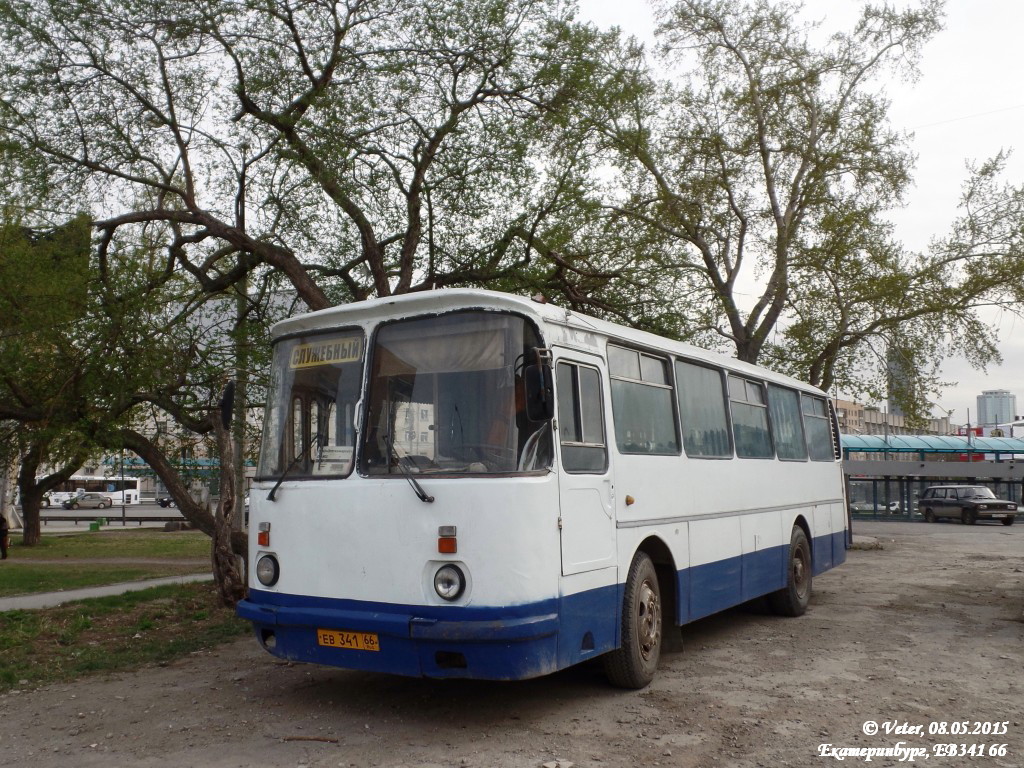
[[[604,441],[604,408],[597,369],[559,362],[558,435],[566,472],[604,472],[608,451]]]

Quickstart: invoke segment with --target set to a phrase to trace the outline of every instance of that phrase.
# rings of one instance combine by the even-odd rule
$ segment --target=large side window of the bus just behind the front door
[[[608,345],[615,444],[624,454],[679,453],[668,362]]]

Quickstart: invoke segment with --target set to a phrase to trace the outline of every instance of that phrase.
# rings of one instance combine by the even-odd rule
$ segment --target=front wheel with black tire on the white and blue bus
[[[622,645],[605,653],[604,673],[620,688],[644,688],[662,656],[662,589],[654,563],[637,552],[623,596]]]

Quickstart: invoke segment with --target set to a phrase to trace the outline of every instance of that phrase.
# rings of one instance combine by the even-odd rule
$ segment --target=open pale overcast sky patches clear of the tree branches
[[[898,2],[904,5],[905,2]],[[812,18],[828,24],[852,20],[853,0],[806,0]],[[653,15],[644,0],[580,0],[584,18],[598,26],[618,26],[641,40],[653,40]],[[912,250],[924,250],[942,236],[956,216],[965,163],[981,161],[999,150],[1017,152],[1007,180],[1024,181],[1024,3],[1019,0],[946,0],[945,30],[924,50],[916,83],[893,83],[892,124],[913,133],[918,155],[915,185],[904,210],[893,215],[897,237]],[[955,382],[939,398],[936,415],[953,411],[953,423],[977,415],[983,389],[1009,389],[1024,410],[1024,323],[1012,315],[991,315],[1001,339],[1001,366],[987,373],[966,361],[950,360],[944,380]]]

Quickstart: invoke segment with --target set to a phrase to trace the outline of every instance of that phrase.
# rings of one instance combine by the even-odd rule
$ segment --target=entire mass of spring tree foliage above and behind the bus
[[[944,356],[992,359],[977,309],[1022,298],[1000,159],[934,251],[885,223],[912,157],[883,86],[914,76],[940,0],[864,6],[823,42],[790,0],[657,9],[665,79],[560,0],[0,0],[0,168],[36,212],[3,228],[29,290],[0,295],[28,309],[0,417],[52,423],[50,456],[129,445],[183,472],[228,373],[261,401],[273,321],[449,286],[865,395],[895,358],[913,410]],[[91,246],[84,218],[43,231],[39,211],[86,208]],[[65,252],[74,276],[26,271]]]

